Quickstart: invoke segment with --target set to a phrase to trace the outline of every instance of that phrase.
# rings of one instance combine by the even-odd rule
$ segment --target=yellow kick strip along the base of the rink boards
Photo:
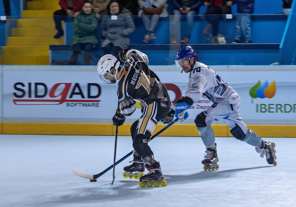
[[[113,124],[81,123],[2,123],[3,134],[40,134],[40,135],[115,135]],[[157,124],[154,134],[164,128]],[[130,136],[131,124],[118,128],[118,135]],[[260,137],[296,137],[295,125],[248,125]],[[217,137],[232,137],[229,126],[212,125]],[[174,124],[159,136],[200,136],[194,124]]]

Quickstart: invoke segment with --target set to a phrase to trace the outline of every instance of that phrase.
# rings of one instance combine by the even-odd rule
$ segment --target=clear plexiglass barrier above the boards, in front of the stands
[[[41,15],[2,18],[1,64],[96,65],[102,55],[116,56],[131,47],[146,53],[150,65],[173,65],[176,51],[191,45],[198,60],[209,65],[269,65],[281,64],[283,36],[289,38],[289,51],[295,49],[288,44],[295,35],[284,35],[287,14],[125,13],[94,15],[88,22],[81,15]],[[290,15],[294,20],[295,14]],[[288,57],[283,64],[293,62]]]

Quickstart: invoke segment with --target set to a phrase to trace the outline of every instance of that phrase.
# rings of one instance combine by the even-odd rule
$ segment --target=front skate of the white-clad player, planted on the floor
[[[217,156],[216,146],[216,143],[213,146],[208,146],[207,150],[205,151],[205,159],[202,161],[202,164],[204,165],[204,171],[219,169],[219,164],[217,163],[219,159]]]

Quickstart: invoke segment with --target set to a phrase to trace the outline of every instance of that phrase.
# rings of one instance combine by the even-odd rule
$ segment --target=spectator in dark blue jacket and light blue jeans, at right
[[[251,15],[254,11],[254,0],[232,0],[237,3],[237,22],[233,44],[240,43],[240,38],[244,36],[244,43],[252,43]]]

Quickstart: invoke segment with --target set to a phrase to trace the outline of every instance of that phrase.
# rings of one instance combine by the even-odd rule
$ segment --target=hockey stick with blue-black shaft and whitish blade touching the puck
[[[153,140],[155,137],[157,137],[158,135],[160,135],[163,131],[165,131],[166,129],[168,129],[168,127],[172,126],[174,123],[176,123],[178,121],[178,119],[173,120],[172,122],[170,122],[168,125],[166,125],[162,130],[160,130],[159,132],[157,132],[155,135],[153,135],[148,142],[150,142],[151,140]],[[115,162],[115,164],[109,166],[107,169],[105,169],[104,171],[100,172],[99,174],[95,174],[95,175],[88,175],[88,174],[84,174],[82,172],[79,172],[78,170],[73,169],[73,172],[83,178],[86,179],[97,179],[98,177],[101,177],[103,174],[105,174],[106,172],[108,172],[110,169],[112,169],[114,166],[118,165],[120,162],[122,162],[123,160],[125,160],[126,158],[128,158],[129,156],[131,156],[133,154],[133,151],[131,151],[130,153],[126,154],[125,156],[123,156],[123,158],[121,158],[120,160],[118,160],[117,162]]]

